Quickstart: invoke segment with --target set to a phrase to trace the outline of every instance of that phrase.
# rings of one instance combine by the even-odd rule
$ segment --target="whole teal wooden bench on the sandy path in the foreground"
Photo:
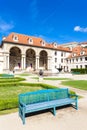
[[[28,92],[19,95],[19,116],[25,124],[27,113],[51,109],[56,115],[56,107],[68,104],[78,109],[78,96],[70,94],[67,88]]]

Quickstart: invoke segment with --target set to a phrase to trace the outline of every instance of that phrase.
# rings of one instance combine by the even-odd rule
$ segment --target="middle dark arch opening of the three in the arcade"
[[[28,49],[26,51],[26,68],[35,70],[36,63],[36,53],[33,49]]]

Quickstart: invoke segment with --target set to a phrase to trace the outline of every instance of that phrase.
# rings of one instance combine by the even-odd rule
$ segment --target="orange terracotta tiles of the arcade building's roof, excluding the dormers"
[[[18,37],[18,41],[13,40],[14,36]],[[32,46],[45,47],[45,48],[50,48],[50,49],[57,49],[57,50],[60,50],[60,51],[69,51],[69,52],[71,52],[68,47],[62,47],[62,46],[54,47],[54,45],[52,43],[48,44],[47,42],[45,42],[45,46],[42,46],[41,41],[44,41],[42,38],[37,38],[37,37],[33,37],[33,36],[18,34],[18,33],[14,33],[14,32],[9,34],[3,40],[3,42],[6,41],[6,42],[12,42],[12,43],[31,45],[31,44],[28,43],[29,38],[31,38],[33,40]]]

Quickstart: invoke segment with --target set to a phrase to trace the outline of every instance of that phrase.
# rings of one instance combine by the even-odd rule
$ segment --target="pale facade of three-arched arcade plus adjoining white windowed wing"
[[[10,56],[10,50],[12,48],[19,48],[20,50],[20,55],[16,55],[15,56]],[[40,67],[42,67],[43,69],[47,69],[50,70],[52,72],[58,71],[56,68],[59,67],[67,67],[67,63],[65,62],[66,57],[70,54],[68,52],[65,51],[58,51],[58,50],[53,50],[53,49],[47,49],[47,48],[41,48],[41,47],[34,47],[34,46],[26,46],[26,45],[19,45],[19,44],[13,44],[13,43],[4,43],[2,46],[2,50],[3,50],[3,69],[4,70],[13,70],[14,67],[16,67],[16,69],[18,67],[18,64],[20,63],[20,70],[29,70],[30,68],[30,64],[32,64],[32,69],[33,70],[39,70]],[[35,53],[35,58],[30,57],[26,57],[26,52],[28,50],[33,50],[33,52]],[[42,59],[40,59],[40,53],[44,51],[46,52],[46,59],[44,59],[44,57]],[[56,51],[56,55],[55,55],[55,51]],[[61,56],[61,53],[63,53],[63,56]],[[29,58],[31,58],[31,60],[29,60]],[[63,62],[61,62],[63,59]],[[41,62],[42,61],[42,62]],[[43,63],[44,62],[44,63]],[[27,64],[26,64],[27,63]],[[26,68],[27,67],[27,68]],[[68,66],[70,67],[70,66]]]

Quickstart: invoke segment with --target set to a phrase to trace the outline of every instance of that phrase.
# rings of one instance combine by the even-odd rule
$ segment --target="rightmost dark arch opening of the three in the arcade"
[[[42,50],[39,54],[39,67],[42,67],[45,70],[48,69],[48,67],[47,67],[47,57],[48,57],[47,52]]]

